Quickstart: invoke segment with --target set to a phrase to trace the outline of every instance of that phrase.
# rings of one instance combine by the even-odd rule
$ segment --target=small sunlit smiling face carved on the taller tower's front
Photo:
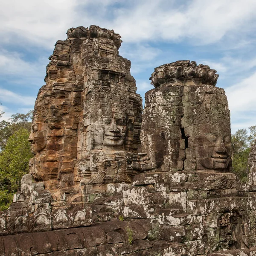
[[[126,134],[126,119],[124,116],[103,118],[104,137],[103,145],[121,146]]]

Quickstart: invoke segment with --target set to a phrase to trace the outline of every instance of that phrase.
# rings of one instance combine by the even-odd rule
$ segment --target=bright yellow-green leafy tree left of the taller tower
[[[29,171],[29,159],[33,157],[28,142],[29,131],[20,128],[9,137],[0,154],[0,208],[12,202],[20,187],[21,177]]]

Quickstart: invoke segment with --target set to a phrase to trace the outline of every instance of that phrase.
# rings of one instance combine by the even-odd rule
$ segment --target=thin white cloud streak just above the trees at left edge
[[[23,96],[10,90],[0,88],[0,102],[15,103],[22,106],[34,106],[35,98],[30,96]]]

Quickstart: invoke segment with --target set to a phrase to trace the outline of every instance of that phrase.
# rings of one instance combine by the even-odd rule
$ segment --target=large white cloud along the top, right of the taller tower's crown
[[[255,26],[255,11],[254,0],[192,0],[178,7],[165,0],[140,1],[133,9],[119,12],[113,26],[130,42],[190,38],[200,45],[238,31],[239,41],[241,34],[249,33],[248,23]]]

